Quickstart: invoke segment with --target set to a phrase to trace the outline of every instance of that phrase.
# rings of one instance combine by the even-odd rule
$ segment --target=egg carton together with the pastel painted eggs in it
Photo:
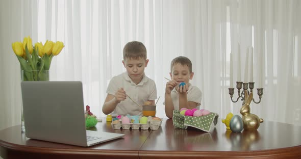
[[[133,129],[138,130],[141,128],[142,130],[148,130],[148,128],[152,130],[157,130],[162,123],[162,119],[158,117],[140,117],[140,116],[123,116],[121,118],[114,118],[111,125],[114,129]]]

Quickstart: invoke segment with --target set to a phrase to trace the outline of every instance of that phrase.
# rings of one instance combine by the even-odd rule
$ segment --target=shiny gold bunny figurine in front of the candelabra
[[[251,114],[251,109],[249,107],[252,99],[253,99],[253,92],[250,92],[250,95],[248,95],[248,92],[244,90],[244,101],[245,103],[242,105],[240,109],[240,114],[242,115],[242,122],[243,122],[243,129],[245,130],[257,130],[260,123],[263,122],[262,118],[259,118],[255,114]]]

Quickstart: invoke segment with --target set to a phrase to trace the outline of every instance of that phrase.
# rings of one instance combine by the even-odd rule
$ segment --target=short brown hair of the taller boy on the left
[[[135,60],[143,58],[146,60],[146,47],[144,46],[144,44],[139,41],[128,42],[123,47],[123,60],[126,60],[128,58]]]

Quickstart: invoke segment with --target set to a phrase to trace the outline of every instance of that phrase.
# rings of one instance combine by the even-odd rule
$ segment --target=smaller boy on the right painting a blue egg
[[[177,57],[170,64],[171,81],[166,83],[165,87],[165,114],[168,118],[172,118],[173,110],[181,110],[182,108],[199,109],[202,100],[202,92],[189,83],[192,80],[192,63],[186,57]],[[184,82],[186,85],[180,85]]]

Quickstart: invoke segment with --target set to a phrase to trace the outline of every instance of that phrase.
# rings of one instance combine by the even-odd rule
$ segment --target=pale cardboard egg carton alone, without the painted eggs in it
[[[132,130],[139,130],[139,128],[141,128],[141,130],[148,130],[148,128],[150,128],[151,130],[157,130],[162,123],[162,119],[159,120],[152,120],[152,121],[147,121],[146,124],[135,124],[135,123],[130,123],[130,124],[122,124],[121,121],[119,121],[116,124],[111,123],[112,128],[113,129],[132,129]]]

